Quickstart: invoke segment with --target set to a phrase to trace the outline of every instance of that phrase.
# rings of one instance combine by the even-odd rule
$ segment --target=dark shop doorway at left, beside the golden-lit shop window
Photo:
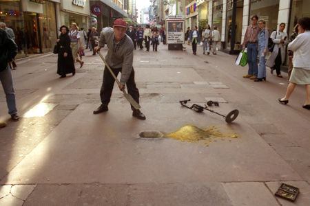
[[[28,54],[39,54],[40,51],[40,38],[38,27],[37,13],[24,12],[25,22],[25,38],[27,43]]]

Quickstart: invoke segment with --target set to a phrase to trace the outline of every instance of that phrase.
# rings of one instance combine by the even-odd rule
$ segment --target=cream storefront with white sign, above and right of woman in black
[[[87,30],[90,18],[90,1],[71,0],[61,1],[61,25],[70,27],[71,23],[76,23],[78,27]]]

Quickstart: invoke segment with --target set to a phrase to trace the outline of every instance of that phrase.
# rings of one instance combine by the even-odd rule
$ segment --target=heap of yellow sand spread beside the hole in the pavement
[[[178,129],[174,133],[165,134],[165,137],[172,137],[174,139],[179,139],[180,141],[196,142],[200,140],[212,141],[214,140],[214,138],[221,138],[221,140],[224,141],[225,137],[238,138],[238,135],[236,134],[225,135],[221,133],[216,126],[212,126],[206,129],[200,129],[196,126],[186,125]],[[207,142],[205,142],[205,146],[208,146]]]

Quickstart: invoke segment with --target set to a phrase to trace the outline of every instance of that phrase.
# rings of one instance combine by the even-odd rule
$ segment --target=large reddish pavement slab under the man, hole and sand
[[[228,126],[223,117],[194,113],[178,104],[142,104],[147,120],[141,121],[133,119],[129,105],[112,104],[109,112],[92,115],[96,106],[78,106],[1,183],[300,180],[242,119]],[[229,104],[219,108],[228,111]],[[187,124],[223,126],[223,133],[234,131],[241,138],[212,142],[209,147],[137,138],[143,130],[171,133]]]

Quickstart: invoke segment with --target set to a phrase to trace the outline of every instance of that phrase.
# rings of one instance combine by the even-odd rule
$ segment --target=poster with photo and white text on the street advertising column
[[[184,20],[167,20],[167,43],[184,43]]]

